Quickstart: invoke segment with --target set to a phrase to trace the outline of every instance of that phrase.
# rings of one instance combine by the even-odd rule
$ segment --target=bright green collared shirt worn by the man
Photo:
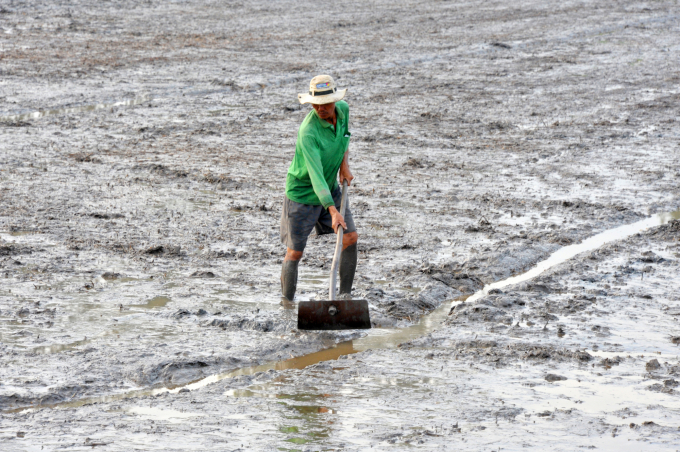
[[[349,105],[335,104],[335,127],[319,118],[315,110],[302,121],[295,144],[295,157],[286,176],[288,199],[328,209],[334,205],[331,191],[338,186],[338,170],[349,146]]]

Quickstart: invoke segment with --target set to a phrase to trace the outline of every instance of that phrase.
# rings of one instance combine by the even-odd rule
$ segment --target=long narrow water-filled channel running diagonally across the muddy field
[[[615,240],[625,239],[633,234],[636,234],[644,229],[659,226],[673,219],[680,219],[680,210],[671,213],[664,213],[654,215],[650,218],[638,221],[633,224],[620,226],[618,228],[610,229],[597,234],[589,239],[584,240],[582,243],[577,245],[570,245],[553,253],[548,259],[539,262],[533,269],[526,273],[518,276],[510,277],[503,281],[498,281],[493,284],[485,286],[483,289],[477,291],[472,295],[467,295],[459,298],[459,301],[467,299],[468,301],[474,301],[485,296],[489,290],[494,288],[506,287],[509,285],[517,284],[519,282],[527,281],[541,274],[542,272],[554,267],[555,265],[561,264],[577,254],[595,250],[605,243],[612,242]],[[164,297],[157,297],[164,298]],[[169,301],[169,299],[168,299]],[[453,301],[453,300],[452,300]],[[308,355],[299,356],[296,358],[291,358],[283,361],[275,361],[267,364],[245,367],[237,369],[230,372],[225,372],[221,374],[214,374],[208,377],[202,378],[200,380],[180,385],[176,387],[165,387],[156,389],[143,389],[137,391],[130,391],[125,394],[117,394],[112,396],[102,396],[93,397],[88,399],[81,399],[74,402],[68,403],[58,403],[51,406],[51,408],[73,408],[82,406],[88,403],[95,402],[112,402],[123,400],[127,398],[142,397],[149,395],[157,395],[163,392],[177,393],[181,389],[189,389],[190,391],[201,389],[213,383],[219,382],[226,378],[234,378],[244,375],[254,375],[258,372],[266,372],[269,370],[288,370],[288,369],[304,369],[313,364],[322,362],[336,360],[342,355],[349,355],[353,353],[358,353],[362,351],[367,351],[371,349],[394,349],[399,347],[400,344],[408,341],[412,341],[424,335],[427,335],[435,331],[441,324],[446,320],[450,310],[450,303],[442,303],[437,309],[432,311],[430,314],[424,316],[420,322],[415,325],[411,325],[406,328],[385,328],[379,329],[374,328],[370,332],[359,339],[341,342],[331,348],[321,350],[318,352],[310,353]],[[46,406],[42,406],[46,407]],[[26,409],[31,409],[36,407],[24,407],[9,412],[23,411]]]

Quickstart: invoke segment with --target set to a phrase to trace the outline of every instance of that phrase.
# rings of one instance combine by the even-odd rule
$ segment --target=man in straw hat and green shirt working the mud
[[[298,130],[295,156],[286,177],[286,197],[281,215],[281,241],[288,248],[281,269],[281,291],[293,301],[297,287],[298,264],[307,237],[330,234],[344,228],[340,258],[340,294],[350,294],[357,266],[357,232],[349,210],[340,215],[342,184],[354,179],[349,170],[349,106],[343,101],[347,89],[339,90],[329,75],[317,75],[309,93],[298,94],[301,104],[314,109]]]

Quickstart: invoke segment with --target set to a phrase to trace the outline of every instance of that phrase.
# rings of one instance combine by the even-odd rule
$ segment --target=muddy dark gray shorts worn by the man
[[[342,191],[337,187],[331,193],[335,208],[340,210]],[[345,233],[355,232],[352,211],[349,209],[349,197],[345,210]],[[295,251],[304,251],[307,245],[307,237],[316,229],[316,234],[333,234],[331,214],[323,206],[310,206],[291,201],[287,196],[283,199],[283,212],[281,213],[281,243]]]

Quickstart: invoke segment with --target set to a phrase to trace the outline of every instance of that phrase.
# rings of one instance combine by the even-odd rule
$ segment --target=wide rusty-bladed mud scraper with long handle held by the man
[[[347,181],[342,183],[340,215],[345,216],[347,208]],[[342,253],[342,226],[338,228],[338,240],[331,264],[330,300],[311,300],[298,303],[299,330],[354,330],[371,327],[366,300],[336,300],[337,274]]]

